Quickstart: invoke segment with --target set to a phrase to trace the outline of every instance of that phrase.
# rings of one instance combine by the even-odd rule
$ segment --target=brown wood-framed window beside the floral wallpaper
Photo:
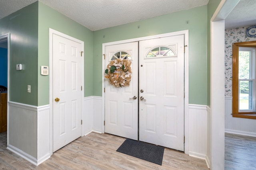
[[[232,115],[256,119],[256,41],[234,43]]]

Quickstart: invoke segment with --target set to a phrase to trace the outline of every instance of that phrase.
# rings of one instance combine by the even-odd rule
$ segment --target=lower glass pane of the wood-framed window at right
[[[252,80],[239,82],[239,110],[252,110]]]

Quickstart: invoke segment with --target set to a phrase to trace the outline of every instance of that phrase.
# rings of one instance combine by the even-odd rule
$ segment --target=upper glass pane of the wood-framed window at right
[[[250,79],[251,51],[239,51],[238,79]]]

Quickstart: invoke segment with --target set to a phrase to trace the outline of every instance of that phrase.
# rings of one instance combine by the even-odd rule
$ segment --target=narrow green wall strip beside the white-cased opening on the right
[[[216,11],[218,5],[220,4],[221,0],[209,0],[208,5],[207,5],[207,105],[210,106],[211,99],[210,99],[210,93],[211,93],[211,85],[210,85],[210,78],[211,78],[211,53],[210,53],[210,47],[211,47],[211,41],[210,41],[210,36],[211,36],[211,27],[210,27],[210,20],[212,18],[212,15]],[[223,85],[224,86],[224,85]]]

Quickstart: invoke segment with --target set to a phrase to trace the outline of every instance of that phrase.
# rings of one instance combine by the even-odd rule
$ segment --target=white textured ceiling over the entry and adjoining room
[[[37,0],[0,0],[0,19]],[[209,0],[40,0],[92,31],[204,6]],[[256,25],[256,0],[240,0],[226,29]]]

